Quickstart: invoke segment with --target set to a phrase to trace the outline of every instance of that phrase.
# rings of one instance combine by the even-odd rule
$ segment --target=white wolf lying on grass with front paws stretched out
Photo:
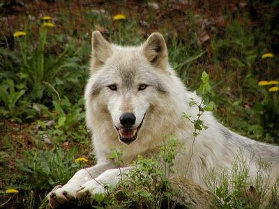
[[[182,118],[197,115],[197,107],[189,107],[190,98],[201,101],[186,90],[169,66],[167,47],[160,33],[152,33],[140,46],[121,47],[110,44],[98,31],[92,33],[90,78],[86,85],[86,124],[92,132],[96,166],[77,171],[63,187],[56,186],[48,194],[49,206],[56,208],[68,201],[89,204],[94,194],[104,192],[103,184],[116,185],[119,169],[107,157],[112,147],[123,146],[123,172],[137,155],[144,155],[163,145],[163,135],[174,134],[185,151],[174,160],[176,175],[206,187],[203,175],[209,169],[230,168],[236,152],[251,153],[273,163],[269,182],[279,169],[279,147],[253,141],[227,130],[212,116],[202,115],[209,127],[198,135],[193,146],[193,124]],[[191,160],[190,160],[191,159]],[[190,163],[189,163],[190,160]],[[250,176],[257,167],[252,162]]]

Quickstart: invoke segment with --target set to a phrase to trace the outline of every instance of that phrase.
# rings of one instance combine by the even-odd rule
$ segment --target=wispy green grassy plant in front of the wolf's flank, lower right
[[[253,156],[251,156],[251,161]],[[279,177],[269,187],[271,164],[257,162],[257,175],[249,178],[250,162],[243,157],[243,150],[236,153],[232,170],[211,170],[204,176],[207,187],[213,194],[217,208],[276,208],[278,207]]]

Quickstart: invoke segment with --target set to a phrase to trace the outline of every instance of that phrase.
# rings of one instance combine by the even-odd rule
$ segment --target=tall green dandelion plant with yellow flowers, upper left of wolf
[[[84,65],[78,65],[80,62],[78,54],[82,53],[86,48],[84,42],[80,48],[75,49],[73,40],[70,38],[68,38],[70,44],[65,44],[65,40],[59,36],[54,36],[56,44],[57,42],[60,44],[58,51],[61,51],[61,53],[46,53],[48,50],[46,47],[47,36],[50,28],[53,27],[54,24],[52,22],[43,20],[38,32],[38,43],[33,47],[30,47],[33,44],[28,40],[29,36],[31,36],[31,34],[29,35],[28,26],[26,26],[27,32],[19,31],[14,33],[17,47],[20,48],[20,59],[22,60],[19,68],[20,73],[24,75],[24,79],[22,79],[21,83],[27,86],[27,95],[32,101],[40,101],[43,95],[50,95],[50,93],[57,95],[58,93],[55,89],[57,85],[60,85],[59,91],[61,91],[63,90],[61,85],[66,84],[68,86],[68,82],[77,83],[78,78],[83,75],[79,72],[73,73],[69,77],[67,72],[71,69],[84,68]],[[61,73],[62,71],[63,73]],[[45,92],[47,88],[49,91]]]

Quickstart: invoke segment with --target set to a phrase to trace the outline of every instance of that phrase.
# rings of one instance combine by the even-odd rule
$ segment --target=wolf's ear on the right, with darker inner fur
[[[167,69],[167,46],[161,33],[152,33],[142,45],[142,53],[155,67]]]

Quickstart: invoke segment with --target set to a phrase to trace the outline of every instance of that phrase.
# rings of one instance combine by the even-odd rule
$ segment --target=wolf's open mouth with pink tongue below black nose
[[[122,141],[125,144],[130,144],[132,141],[135,141],[135,139],[137,139],[137,132],[140,130],[140,127],[142,127],[142,123],[144,122],[144,117],[142,118],[142,122],[140,123],[140,125],[136,128],[118,128],[114,125],[119,134],[120,141]]]

